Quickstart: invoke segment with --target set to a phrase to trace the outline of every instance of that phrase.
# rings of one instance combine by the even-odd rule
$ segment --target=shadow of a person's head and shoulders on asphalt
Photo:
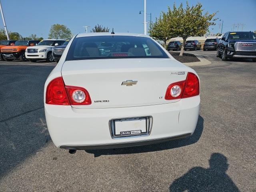
[[[213,153],[210,167],[194,167],[170,185],[170,192],[239,192],[232,179],[226,174],[226,156]]]

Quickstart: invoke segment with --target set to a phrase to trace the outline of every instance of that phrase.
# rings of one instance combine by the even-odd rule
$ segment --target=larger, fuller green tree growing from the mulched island
[[[215,25],[213,21],[216,20],[214,19],[216,12],[212,14],[205,12],[203,14],[203,11],[200,2],[191,7],[186,2],[186,8],[183,8],[182,3],[178,8],[176,8],[175,4],[173,5],[172,22],[175,27],[174,30],[183,39],[180,56],[183,55],[184,45],[188,37],[202,36],[208,31],[209,26]]]

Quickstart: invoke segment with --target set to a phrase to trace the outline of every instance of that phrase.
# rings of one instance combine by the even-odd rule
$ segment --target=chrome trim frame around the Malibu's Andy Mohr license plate
[[[128,119],[128,118],[146,118],[146,123],[148,125],[147,127],[147,133],[146,134],[140,134],[140,135],[126,135],[126,136],[114,136],[114,120],[121,120],[121,119]],[[138,137],[138,136],[149,136],[152,130],[153,126],[153,117],[152,116],[137,116],[137,117],[122,117],[122,118],[112,118],[108,121],[108,127],[109,127],[109,132],[110,136],[112,139],[117,139],[117,138],[127,138],[127,137]]]

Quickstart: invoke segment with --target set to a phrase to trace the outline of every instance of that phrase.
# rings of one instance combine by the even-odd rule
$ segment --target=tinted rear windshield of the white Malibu
[[[75,38],[66,60],[109,58],[169,58],[152,39],[137,36],[87,36]]]

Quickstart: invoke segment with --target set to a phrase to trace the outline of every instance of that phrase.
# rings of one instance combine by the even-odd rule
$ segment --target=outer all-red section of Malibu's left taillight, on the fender
[[[57,77],[48,84],[46,104],[70,105],[62,77]]]

